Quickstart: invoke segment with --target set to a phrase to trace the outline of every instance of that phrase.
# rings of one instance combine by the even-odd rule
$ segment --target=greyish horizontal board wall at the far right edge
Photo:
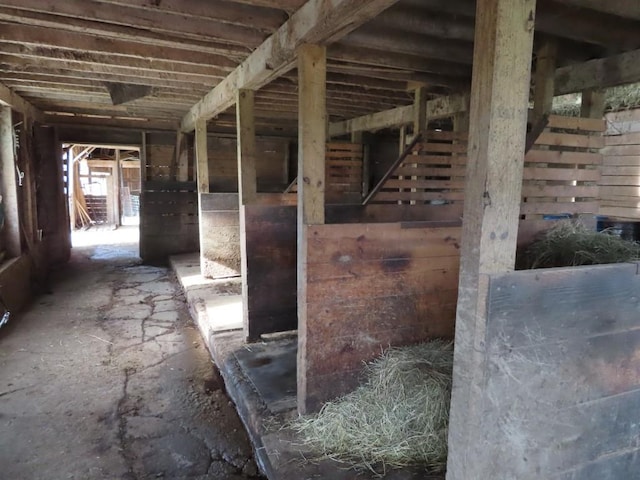
[[[606,119],[600,215],[640,220],[640,109]]]

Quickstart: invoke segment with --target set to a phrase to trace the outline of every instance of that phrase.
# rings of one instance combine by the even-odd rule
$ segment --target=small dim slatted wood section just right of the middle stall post
[[[325,203],[362,202],[363,146],[359,143],[327,143]],[[293,185],[290,192],[298,191]]]

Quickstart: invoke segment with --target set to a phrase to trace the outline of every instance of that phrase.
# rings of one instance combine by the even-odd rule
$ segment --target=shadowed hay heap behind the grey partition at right
[[[527,248],[527,268],[573,267],[636,261],[640,245],[582,223],[560,221]]]

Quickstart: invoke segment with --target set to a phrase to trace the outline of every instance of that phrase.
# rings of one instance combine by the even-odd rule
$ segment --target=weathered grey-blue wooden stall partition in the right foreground
[[[468,413],[449,438],[450,451],[456,435],[467,439],[474,478],[637,477],[639,271],[618,264],[481,279],[477,396],[458,399]]]

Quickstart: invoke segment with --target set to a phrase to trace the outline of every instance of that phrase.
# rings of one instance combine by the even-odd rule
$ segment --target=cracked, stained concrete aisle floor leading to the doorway
[[[260,478],[165,268],[76,248],[0,330],[0,479]]]

